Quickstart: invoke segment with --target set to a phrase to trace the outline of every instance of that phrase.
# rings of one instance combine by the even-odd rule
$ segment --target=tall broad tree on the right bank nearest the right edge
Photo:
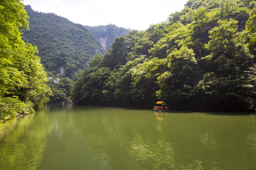
[[[206,48],[209,72],[197,86],[205,106],[219,110],[244,110],[255,100],[249,71],[253,55],[249,53],[245,32],[237,32],[238,21],[219,20],[210,32]],[[209,95],[210,94],[210,95]]]

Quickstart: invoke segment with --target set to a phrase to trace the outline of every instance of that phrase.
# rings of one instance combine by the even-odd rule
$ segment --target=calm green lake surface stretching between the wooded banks
[[[0,127],[0,170],[255,170],[256,115],[47,105]]]

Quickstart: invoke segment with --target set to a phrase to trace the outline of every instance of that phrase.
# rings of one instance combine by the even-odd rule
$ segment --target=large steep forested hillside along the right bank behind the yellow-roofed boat
[[[255,0],[189,0],[146,31],[119,37],[75,83],[79,104],[250,110],[256,102]]]

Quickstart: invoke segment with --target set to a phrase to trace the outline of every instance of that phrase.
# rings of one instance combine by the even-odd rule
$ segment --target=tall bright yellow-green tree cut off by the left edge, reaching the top
[[[15,60],[22,43],[18,28],[28,28],[28,22],[20,1],[2,0],[0,15],[0,96],[5,96],[13,88],[25,85],[26,77],[18,71]]]

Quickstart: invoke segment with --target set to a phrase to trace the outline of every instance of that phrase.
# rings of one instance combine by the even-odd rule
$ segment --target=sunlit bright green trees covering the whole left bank
[[[52,95],[37,48],[22,41],[19,30],[28,27],[19,0],[0,1],[0,123],[35,112]]]

